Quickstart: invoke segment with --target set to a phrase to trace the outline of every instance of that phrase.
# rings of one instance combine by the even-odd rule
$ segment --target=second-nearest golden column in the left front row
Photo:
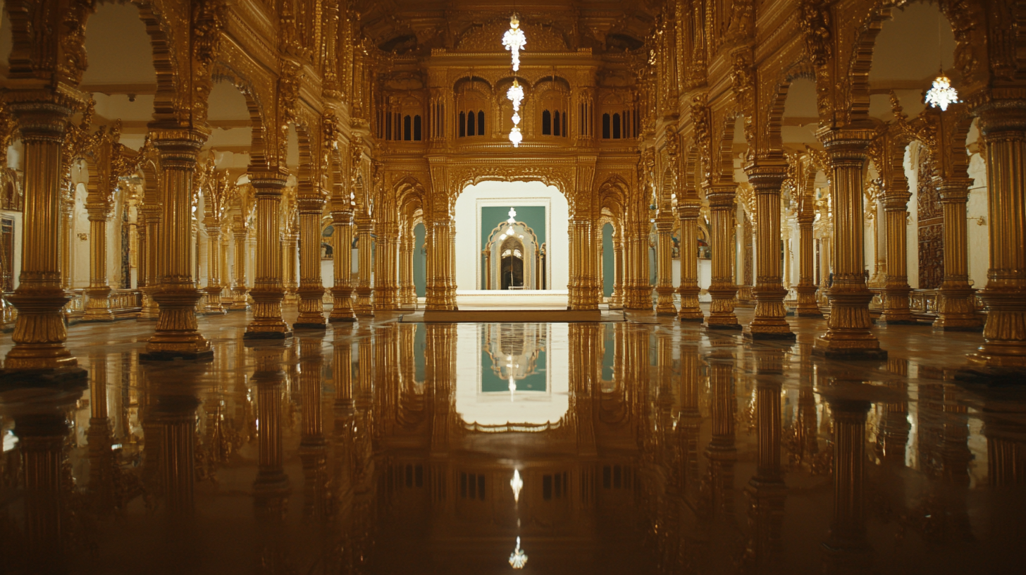
[[[196,155],[207,135],[196,129],[151,132],[160,161],[163,192],[158,238],[157,281],[153,299],[160,305],[157,330],[140,358],[202,359],[213,357],[210,343],[196,325],[199,291],[190,266],[193,176]]]

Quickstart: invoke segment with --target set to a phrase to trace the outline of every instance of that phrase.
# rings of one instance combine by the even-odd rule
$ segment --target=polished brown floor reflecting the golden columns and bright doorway
[[[954,381],[978,334],[844,363],[822,320],[640,319],[253,343],[236,312],[206,363],[72,327],[88,388],[0,390],[0,573],[1021,572],[1026,393]]]

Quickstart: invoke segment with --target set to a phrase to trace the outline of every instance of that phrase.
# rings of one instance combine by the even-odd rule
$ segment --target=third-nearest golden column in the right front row
[[[787,164],[780,162],[753,163],[747,166],[748,182],[755,190],[755,317],[745,330],[745,336],[754,340],[793,340],[788,324],[784,296],[787,290],[781,283],[780,254],[780,187],[787,176]],[[751,268],[748,268],[749,270]],[[747,274],[751,271],[746,270]]]

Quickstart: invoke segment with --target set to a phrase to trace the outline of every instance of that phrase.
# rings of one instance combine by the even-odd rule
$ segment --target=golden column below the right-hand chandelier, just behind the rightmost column
[[[937,294],[935,328],[945,332],[979,332],[983,318],[976,313],[976,298],[969,284],[969,243],[965,203],[969,178],[935,178],[944,209],[944,281]]]

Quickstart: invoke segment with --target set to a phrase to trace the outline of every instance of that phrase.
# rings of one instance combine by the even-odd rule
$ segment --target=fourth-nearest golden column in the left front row
[[[325,195],[320,189],[300,188],[300,316],[293,329],[324,330],[324,283],[320,274],[321,215]]]

